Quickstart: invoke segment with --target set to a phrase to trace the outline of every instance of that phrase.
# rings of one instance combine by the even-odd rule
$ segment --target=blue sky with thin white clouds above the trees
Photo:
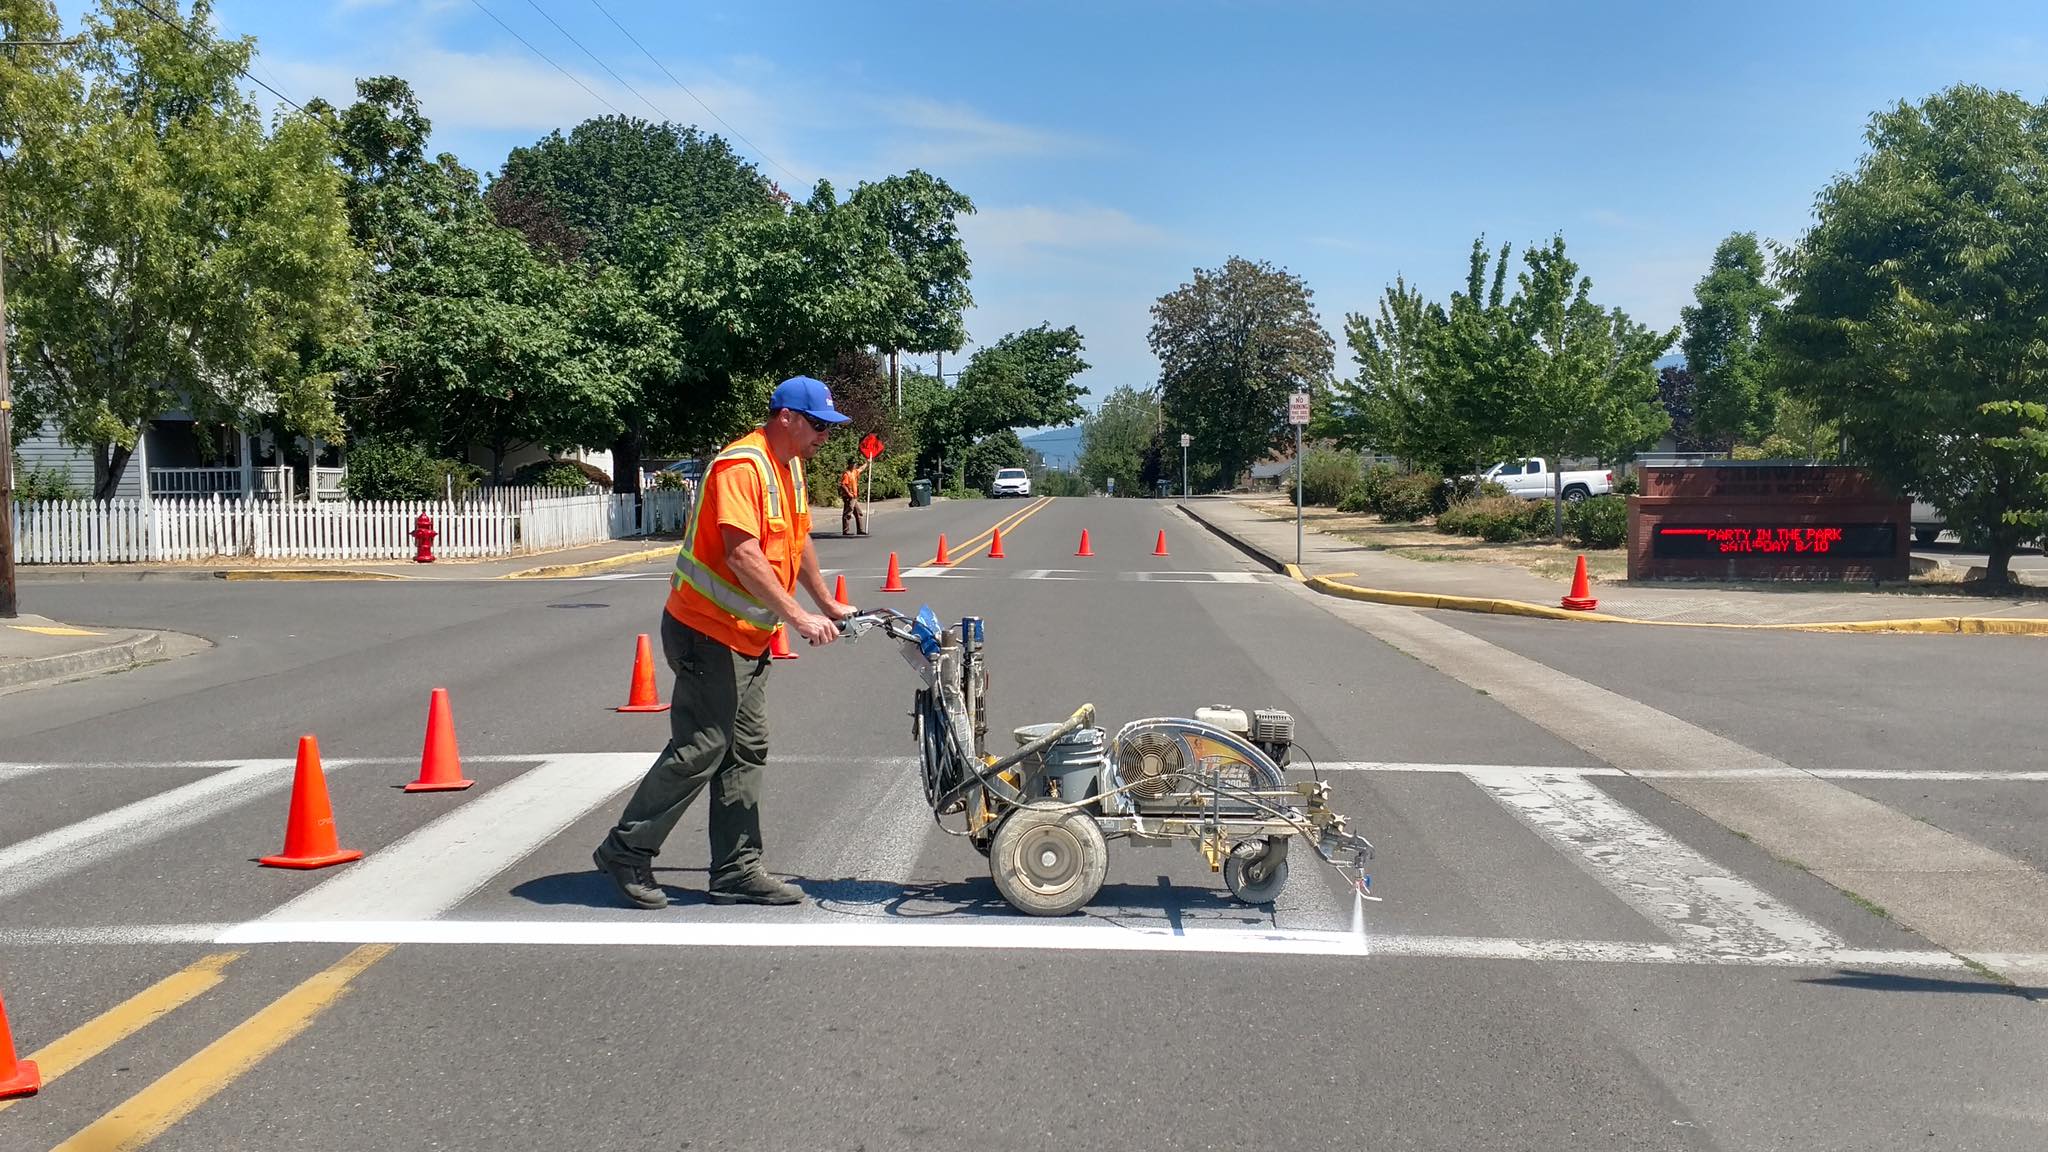
[[[981,209],[971,336],[1075,324],[1096,396],[1155,379],[1151,301],[1233,254],[1309,281],[1339,375],[1343,314],[1397,273],[1442,297],[1477,234],[1563,232],[1595,299],[1675,326],[1722,236],[1800,234],[1872,111],[2048,82],[2042,0],[598,2],[674,80],[592,0],[219,0],[217,18],[301,102],[408,78],[434,148],[483,172],[604,100],[743,135],[793,191],[932,170]]]

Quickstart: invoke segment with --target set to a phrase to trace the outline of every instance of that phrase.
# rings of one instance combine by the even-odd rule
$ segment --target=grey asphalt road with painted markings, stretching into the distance
[[[618,908],[590,847],[666,738],[612,711],[659,566],[31,586],[25,611],[215,648],[0,697],[0,994],[63,1068],[0,1111],[0,1148],[2048,1146],[2025,990],[1165,504],[1030,508],[817,545],[856,601],[987,619],[991,732],[1081,701],[1112,732],[1290,709],[1378,845],[1358,924],[1307,855],[1249,908],[1192,849],[1130,847],[1083,914],[1016,916],[922,810],[913,678],[879,637],[774,668],[768,859],[809,900],[705,904],[698,810],[659,859],[672,906]],[[1016,515],[1006,560],[874,590],[889,549],[913,568]],[[1452,623],[1800,767],[2042,765],[2038,642]],[[434,687],[479,783],[408,795]],[[260,869],[305,732],[369,855]]]

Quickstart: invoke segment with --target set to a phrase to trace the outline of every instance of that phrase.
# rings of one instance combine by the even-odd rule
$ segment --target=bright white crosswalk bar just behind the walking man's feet
[[[264,920],[426,920],[645,775],[649,756],[549,756],[403,840],[285,902]]]

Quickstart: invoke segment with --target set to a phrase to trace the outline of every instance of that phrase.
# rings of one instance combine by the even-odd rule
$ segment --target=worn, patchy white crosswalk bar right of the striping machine
[[[1583,777],[1475,773],[1470,779],[1694,949],[1794,957],[1841,947],[1835,933],[1677,842]]]

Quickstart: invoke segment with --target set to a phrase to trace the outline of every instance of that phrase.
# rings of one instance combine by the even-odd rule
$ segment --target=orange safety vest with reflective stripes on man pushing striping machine
[[[682,533],[676,551],[676,572],[670,576],[668,615],[702,631],[741,656],[760,656],[768,637],[780,627],[774,609],[748,592],[725,556],[725,533],[719,531],[719,486],[713,478],[725,467],[752,467],[760,476],[762,502],[756,521],[760,543],[776,582],[797,592],[797,572],[803,547],[811,539],[811,502],[803,484],[803,461],[776,461],[768,453],[768,437],[760,428],[725,445],[698,486],[696,512]]]

